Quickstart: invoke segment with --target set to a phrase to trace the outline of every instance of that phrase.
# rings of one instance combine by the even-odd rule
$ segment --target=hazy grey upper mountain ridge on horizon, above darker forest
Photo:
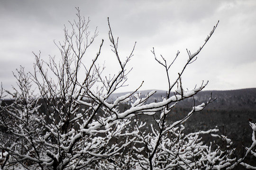
[[[142,97],[145,97],[146,93],[150,93],[153,90],[139,91]],[[166,91],[155,90],[156,93],[149,98],[149,102],[160,102],[162,97],[166,97]],[[137,93],[139,93],[137,92]],[[132,93],[132,92],[127,92]],[[127,93],[114,93],[110,96],[110,100],[115,100],[119,96],[125,95]],[[216,100],[210,103],[207,107],[208,109],[218,110],[256,110],[256,88],[247,88],[239,90],[224,90],[224,91],[201,91],[194,96],[196,104],[201,104],[202,102],[207,102],[211,96],[216,98]],[[177,106],[190,107],[193,105],[193,99],[185,99],[179,102]]]

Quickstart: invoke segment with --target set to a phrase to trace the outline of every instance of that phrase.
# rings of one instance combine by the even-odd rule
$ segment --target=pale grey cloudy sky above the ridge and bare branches
[[[76,9],[90,17],[90,29],[99,36],[88,53],[95,56],[104,39],[99,62],[114,73],[115,56],[108,40],[108,22],[119,36],[119,54],[126,59],[137,42],[128,68],[128,87],[167,90],[165,69],[154,59],[162,54],[170,63],[180,51],[171,70],[174,81],[188,59],[186,49],[197,51],[213,26],[219,25],[198,59],[186,69],[183,86],[193,88],[209,80],[205,90],[233,90],[256,87],[256,1],[255,0],[0,0],[0,82],[10,89],[12,71],[25,67],[33,71],[34,55],[41,51],[59,56],[53,40],[62,41],[64,25],[76,19]]]

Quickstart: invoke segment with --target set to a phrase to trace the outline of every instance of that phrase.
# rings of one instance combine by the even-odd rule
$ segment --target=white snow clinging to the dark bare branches
[[[211,34],[212,32],[210,35]],[[208,39],[209,36],[205,41],[208,41]],[[110,41],[113,42],[111,37]],[[200,50],[201,48],[189,56],[190,61],[200,52]],[[100,53],[98,52],[97,55],[99,54]],[[178,55],[178,53],[176,55]],[[96,59],[97,58],[95,58],[93,62],[96,61]],[[162,64],[160,61],[158,62]],[[125,67],[126,63],[127,61],[122,63],[121,67]],[[15,143],[12,144],[8,149],[16,154],[18,159],[20,157],[21,160],[29,159],[35,162],[43,161],[43,166],[52,166],[54,163],[54,159],[52,158],[60,160],[61,156],[64,155],[65,157],[61,162],[62,164],[59,166],[61,167],[63,164],[69,163],[68,166],[70,167],[68,168],[70,169],[73,167],[79,167],[79,163],[86,165],[86,163],[90,161],[98,161],[99,164],[102,160],[107,162],[107,160],[104,158],[113,158],[113,161],[118,162],[120,160],[115,160],[116,158],[113,156],[119,154],[122,154],[126,160],[134,163],[135,165],[133,167],[145,169],[148,169],[150,161],[148,158],[152,156],[152,164],[155,170],[160,170],[159,167],[161,164],[166,162],[167,164],[165,164],[165,169],[177,168],[176,166],[181,169],[196,169],[198,166],[200,166],[202,169],[210,167],[212,169],[220,170],[230,165],[229,162],[225,162],[226,160],[222,160],[222,158],[225,158],[225,155],[223,156],[222,154],[225,153],[218,148],[219,146],[216,146],[217,149],[214,150],[214,147],[211,147],[212,143],[210,145],[206,145],[201,141],[201,135],[210,134],[218,139],[225,139],[227,143],[231,145],[232,141],[228,137],[223,135],[219,136],[216,134],[216,132],[219,131],[218,129],[198,131],[189,134],[183,133],[185,127],[182,125],[182,123],[189,119],[195,111],[202,110],[206,106],[205,103],[201,103],[198,106],[193,106],[191,111],[183,119],[175,122],[165,121],[165,119],[163,119],[167,113],[172,113],[171,110],[176,103],[182,101],[184,98],[190,98],[191,96],[195,95],[197,92],[201,91],[206,84],[187,91],[183,87],[178,87],[176,90],[177,93],[170,98],[162,98],[163,100],[160,102],[145,104],[147,99],[156,91],[151,91],[150,93],[146,94],[145,97],[142,96],[140,92],[134,93],[133,96],[133,93],[127,93],[119,96],[113,103],[108,102],[110,94],[118,88],[120,82],[123,82],[124,79],[126,79],[124,75],[124,72],[119,71],[119,73],[113,77],[103,77],[102,79],[104,79],[104,81],[102,82],[102,86],[104,88],[104,94],[101,87],[94,92],[91,90],[93,85],[78,85],[74,93],[65,92],[67,94],[66,96],[72,96],[72,98],[76,101],[69,103],[71,100],[67,100],[64,103],[60,103],[60,105],[63,104],[63,107],[59,107],[59,105],[57,107],[53,106],[51,109],[55,111],[51,112],[49,116],[50,120],[46,119],[46,116],[33,117],[33,121],[36,120],[46,124],[44,125],[45,135],[39,137],[36,136],[36,139],[28,141],[28,143],[30,142],[33,144],[33,146],[35,145],[35,147],[32,147],[32,150],[33,148],[35,149],[42,146],[42,150],[46,151],[47,155],[43,155],[41,158],[37,158],[37,155],[33,155],[35,158],[32,158],[31,156],[28,156],[28,153],[34,152],[32,150],[28,151],[24,155],[21,155],[18,150],[16,150],[17,144]],[[96,77],[98,78],[98,76]],[[91,76],[91,78],[93,79],[93,76]],[[101,82],[97,78],[93,79],[92,82]],[[82,89],[82,92],[79,92],[80,88]],[[86,96],[83,96],[84,94]],[[62,95],[63,94],[60,92],[53,94],[54,97],[59,97]],[[121,107],[119,107],[119,104],[123,102],[129,102],[129,106],[131,107],[129,107],[127,110],[120,109]],[[86,109],[77,109],[77,105],[84,105],[86,106]],[[169,108],[166,107],[167,105]],[[32,106],[33,103],[27,104],[28,108]],[[68,112],[68,114],[71,114],[71,117],[68,117],[69,115],[63,111],[66,106],[70,106],[69,108],[71,108],[70,112]],[[98,110],[101,112],[97,112]],[[31,111],[29,109],[26,111],[31,113],[35,112],[34,110]],[[161,112],[160,118],[158,117],[159,114],[155,115],[157,111]],[[7,110],[7,113],[18,120],[22,120],[23,116],[26,116],[25,113],[22,112],[14,114],[13,112],[8,112]],[[141,120],[139,117],[135,117],[137,115],[148,115],[147,117],[151,117],[158,124],[156,126],[151,124],[151,127],[149,127],[150,130],[142,131],[142,127],[147,128],[146,123],[148,122],[143,122],[143,119]],[[155,116],[153,117],[150,115]],[[56,121],[56,117],[60,119],[57,119]],[[70,121],[69,126],[71,126],[71,128],[64,132],[62,131],[62,127],[64,126],[64,122],[66,120]],[[146,120],[147,119],[145,119],[145,121]],[[78,128],[72,127],[72,124],[77,124]],[[256,145],[256,124],[250,122],[250,125],[253,129],[253,144],[250,148],[247,148],[247,152],[253,152],[250,149]],[[25,144],[25,142],[27,142],[25,140],[27,140],[28,136],[30,135],[27,135],[29,130],[24,129],[25,126],[22,124],[16,127],[18,127],[18,129],[14,130],[13,134],[23,137]],[[37,132],[40,132],[38,127],[36,128],[36,133]],[[120,141],[120,143],[115,142],[115,139],[117,139],[116,141]],[[56,142],[52,142],[51,140]],[[4,145],[0,146],[2,147]],[[29,150],[31,148],[29,146],[30,145],[24,145],[22,149]],[[126,154],[123,152],[127,146],[129,149],[132,148],[131,151],[133,153]],[[256,155],[256,153],[252,154]],[[130,155],[134,155],[137,158],[130,157]],[[197,160],[192,161],[193,158],[196,158]],[[107,164],[108,163],[112,164],[112,162],[107,162]],[[159,167],[157,167],[158,165]],[[247,164],[244,164],[244,166],[251,168],[251,166]],[[81,167],[81,169],[83,168],[85,167]]]

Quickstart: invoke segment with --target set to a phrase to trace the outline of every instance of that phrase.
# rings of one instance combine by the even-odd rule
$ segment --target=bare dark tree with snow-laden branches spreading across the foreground
[[[252,121],[253,143],[241,158],[234,154],[231,140],[217,134],[218,129],[183,133],[181,124],[213,102],[215,99],[211,95],[205,103],[194,103],[183,119],[174,123],[166,121],[178,102],[193,97],[207,85],[208,82],[202,82],[192,90],[185,90],[181,76],[197,59],[218,23],[198,51],[187,50],[188,60],[173,84],[169,68],[180,52],[168,64],[163,56],[157,58],[153,48],[155,60],[165,68],[169,85],[162,101],[146,104],[155,91],[141,96],[138,89],[143,82],[134,92],[110,101],[111,94],[125,86],[130,71],[126,66],[136,43],[128,57],[119,56],[119,39],[114,38],[109,22],[109,39],[119,71],[107,77],[103,74],[104,66],[98,65],[103,40],[89,67],[85,66],[82,59],[87,57],[86,51],[98,32],[97,29],[90,32],[89,18],[81,17],[79,8],[77,11],[77,21],[70,22],[71,31],[64,28],[64,41],[55,42],[60,60],[50,56],[46,62],[40,53],[34,53],[34,73],[26,74],[21,67],[17,75],[14,74],[18,85],[14,93],[0,91],[1,98],[4,93],[14,98],[9,105],[0,103],[1,126],[5,129],[1,132],[0,148],[7,152],[1,162],[2,169],[18,166],[27,170],[232,169],[238,164],[255,168],[243,163],[249,153],[255,155],[256,124]],[[50,72],[54,76],[49,76]],[[78,76],[81,72],[82,79]],[[32,84],[36,85],[39,94],[35,94]],[[123,106],[128,107],[122,109]],[[45,110],[40,110],[42,107]],[[155,126],[146,128],[140,116],[154,119]],[[200,136],[209,134],[219,138],[222,144],[215,147],[204,144]]]

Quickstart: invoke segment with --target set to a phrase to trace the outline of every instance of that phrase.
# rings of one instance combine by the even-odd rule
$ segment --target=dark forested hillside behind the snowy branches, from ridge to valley
[[[141,91],[141,96],[145,96],[149,91]],[[138,92],[140,93],[140,92]],[[110,97],[110,100],[115,100],[117,97],[124,95],[125,93],[114,93]],[[209,130],[217,126],[219,133],[226,134],[234,142],[234,146],[238,148],[236,151],[239,154],[243,154],[243,146],[248,146],[251,143],[252,129],[249,126],[249,120],[256,121],[256,88],[230,90],[230,91],[201,91],[197,93],[194,98],[185,99],[179,102],[168,114],[167,121],[174,122],[184,118],[191,110],[192,106],[199,105],[202,102],[207,102],[210,96],[216,98],[216,100],[207,105],[204,110],[193,113],[192,117],[188,119],[183,125],[186,127],[185,132],[193,132],[199,130]],[[156,93],[147,101],[159,102],[166,96],[165,91],[156,91]],[[4,100],[6,104],[10,104],[11,100]],[[45,112],[45,105],[43,101],[41,110]],[[124,108],[125,109],[125,108]],[[157,116],[157,114],[156,114]],[[144,122],[147,122],[147,126],[155,124],[152,117],[140,115]],[[4,129],[0,129],[4,131]],[[212,141],[210,138],[203,139],[205,143]],[[251,164],[256,164],[256,160],[253,158],[247,158]],[[239,166],[237,167],[239,169]],[[241,167],[240,167],[241,168]]]

